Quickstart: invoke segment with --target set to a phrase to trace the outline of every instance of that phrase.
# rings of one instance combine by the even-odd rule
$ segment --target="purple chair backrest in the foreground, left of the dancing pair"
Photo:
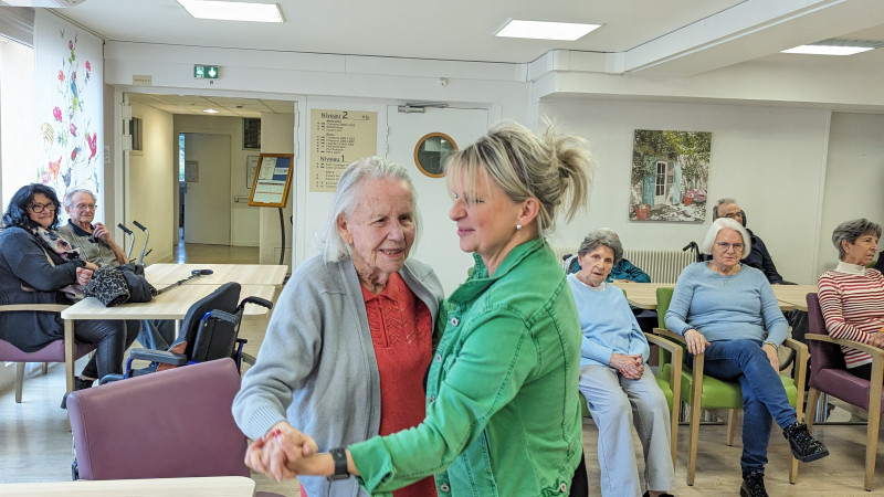
[[[67,413],[83,479],[249,476],[231,405],[231,359],[72,392]]]

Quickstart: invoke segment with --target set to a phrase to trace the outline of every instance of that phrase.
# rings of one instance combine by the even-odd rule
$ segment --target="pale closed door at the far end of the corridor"
[[[230,136],[185,134],[185,243],[230,245]]]

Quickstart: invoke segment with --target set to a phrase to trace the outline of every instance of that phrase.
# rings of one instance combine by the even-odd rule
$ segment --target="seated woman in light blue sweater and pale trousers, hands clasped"
[[[667,496],[674,474],[666,398],[644,363],[650,347],[623,292],[606,283],[623,246],[613,231],[597,230],[583,239],[577,256],[580,271],[568,275],[568,284],[583,331],[580,392],[599,429],[601,493],[641,493],[632,448],[634,424],[644,450],[644,495]]]

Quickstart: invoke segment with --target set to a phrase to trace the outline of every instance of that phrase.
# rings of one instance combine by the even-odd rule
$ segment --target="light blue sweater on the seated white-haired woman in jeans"
[[[685,267],[665,320],[676,334],[693,328],[709,341],[768,340],[779,346],[789,334],[767,277],[745,264],[732,276],[709,269],[708,262]]]

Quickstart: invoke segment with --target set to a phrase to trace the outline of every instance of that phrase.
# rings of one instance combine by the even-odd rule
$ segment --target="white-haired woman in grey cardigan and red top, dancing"
[[[409,258],[417,235],[414,189],[404,168],[377,157],[347,167],[325,250],[285,285],[233,401],[246,436],[270,435],[315,452],[316,444],[345,446],[423,421],[442,285],[430,266]],[[252,444],[246,462],[261,467],[262,456],[263,444]],[[304,476],[301,495],[366,494],[352,478]],[[435,484],[418,479],[398,495],[432,496]]]

